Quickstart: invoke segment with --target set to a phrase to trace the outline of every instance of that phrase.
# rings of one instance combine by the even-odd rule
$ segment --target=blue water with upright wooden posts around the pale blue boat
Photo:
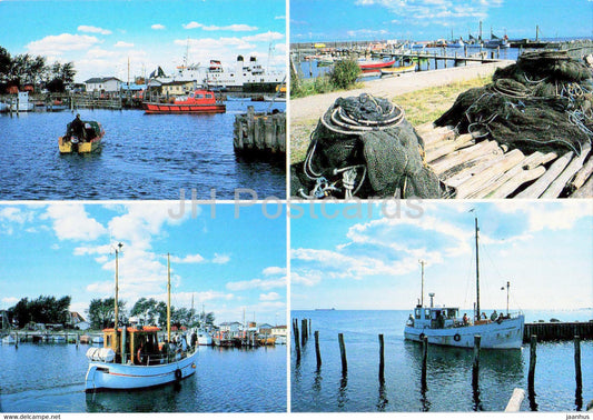
[[[312,334],[300,364],[291,359],[291,411],[503,411],[514,388],[527,390],[528,346],[522,350],[482,350],[480,389],[472,388],[472,349],[431,346],[427,389],[421,387],[422,346],[404,341],[409,311],[293,311],[291,317],[312,319]],[[593,311],[528,312],[526,322],[557,318],[589,320]],[[300,327],[300,323],[299,323]],[[317,372],[313,331],[319,331],[322,369]],[[342,376],[338,333],[344,333],[348,362]],[[385,383],[379,386],[378,334],[385,340]],[[581,343],[583,409],[593,399],[593,342]],[[537,343],[535,399],[527,396],[522,411],[569,411],[575,401],[574,344]]]

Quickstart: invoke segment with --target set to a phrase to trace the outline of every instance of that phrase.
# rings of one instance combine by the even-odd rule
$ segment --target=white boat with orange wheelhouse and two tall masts
[[[120,244],[121,247],[121,244]],[[118,319],[118,250],[116,250],[116,311]],[[185,338],[171,342],[170,330],[170,263],[167,258],[167,342],[158,342],[158,327],[121,327],[103,330],[105,346],[87,351],[89,369],[85,391],[130,390],[180,381],[196,373],[197,348],[187,346]]]

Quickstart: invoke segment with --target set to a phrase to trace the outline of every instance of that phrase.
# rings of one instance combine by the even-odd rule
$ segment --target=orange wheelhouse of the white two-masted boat
[[[166,362],[168,349],[159,346],[159,331],[158,327],[147,326],[118,328],[117,332],[107,328],[103,330],[103,347],[116,353],[116,363],[160,364]]]

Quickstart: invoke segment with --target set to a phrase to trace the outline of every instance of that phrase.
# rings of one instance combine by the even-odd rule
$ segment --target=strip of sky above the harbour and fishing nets
[[[290,42],[592,37],[591,0],[291,0]]]

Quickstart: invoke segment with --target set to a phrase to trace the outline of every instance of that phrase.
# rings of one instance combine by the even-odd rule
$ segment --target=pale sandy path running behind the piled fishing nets
[[[290,123],[298,124],[310,119],[318,119],[340,97],[357,97],[366,92],[375,97],[393,98],[418,89],[491,76],[496,68],[506,67],[513,62],[508,60],[496,63],[405,73],[399,77],[367,81],[362,89],[290,99]]]

